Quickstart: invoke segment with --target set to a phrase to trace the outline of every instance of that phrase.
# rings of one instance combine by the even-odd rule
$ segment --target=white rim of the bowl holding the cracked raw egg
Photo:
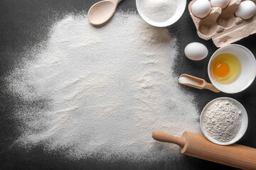
[[[225,45],[225,46],[223,46],[223,47],[218,48],[218,50],[216,50],[216,51],[213,53],[213,55],[210,57],[210,60],[209,60],[209,62],[208,62],[207,72],[208,72],[208,77],[209,77],[209,79],[210,79],[211,84],[213,84],[213,86],[215,86],[216,89],[218,89],[219,91],[222,91],[222,92],[224,92],[224,93],[226,93],[226,94],[237,94],[237,93],[240,93],[241,91],[244,91],[245,89],[247,89],[247,88],[252,84],[252,82],[255,80],[256,73],[255,73],[255,76],[254,76],[254,78],[252,79],[252,81],[250,81],[250,82],[249,82],[246,86],[244,86],[244,88],[242,88],[240,91],[235,91],[235,92],[230,92],[230,91],[225,91],[225,90],[223,90],[223,89],[220,89],[220,88],[218,87],[218,83],[216,83],[216,82],[213,80],[213,78],[211,77],[211,75],[210,75],[210,63],[213,61],[213,56],[214,56],[218,51],[220,51],[220,50],[222,50],[224,47],[228,47],[228,46],[230,46],[230,47],[232,47],[232,46],[237,46],[237,47],[241,47],[241,48],[245,49],[247,52],[250,53],[250,56],[252,56],[252,58],[255,60],[255,56],[252,54],[252,52],[251,52],[249,49],[247,49],[247,47],[242,46],[242,45],[238,45],[238,44]],[[256,63],[256,60],[255,60],[255,63]]]

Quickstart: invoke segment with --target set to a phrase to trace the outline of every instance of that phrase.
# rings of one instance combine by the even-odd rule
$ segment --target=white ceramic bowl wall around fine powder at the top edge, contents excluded
[[[169,18],[169,20],[164,22],[155,22],[155,21],[151,21],[149,18],[145,16],[145,14],[142,11],[141,1],[142,0],[136,0],[136,6],[137,6],[137,11],[139,12],[139,15],[142,17],[144,21],[146,21],[146,23],[149,23],[151,26],[156,26],[156,27],[171,26],[171,24],[174,24],[176,21],[178,21],[179,18],[181,18],[186,8],[186,0],[171,0],[171,1],[176,1],[176,4],[177,4],[177,8],[176,8],[176,12],[174,13],[174,16],[172,16],[171,18]]]

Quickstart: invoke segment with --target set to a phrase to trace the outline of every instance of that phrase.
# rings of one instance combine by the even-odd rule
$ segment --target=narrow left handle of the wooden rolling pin
[[[165,132],[161,131],[154,131],[152,133],[152,137],[154,140],[160,141],[160,142],[169,142],[169,143],[175,143],[176,145],[183,147],[185,145],[185,138],[184,137],[175,137],[173,135],[169,135]]]

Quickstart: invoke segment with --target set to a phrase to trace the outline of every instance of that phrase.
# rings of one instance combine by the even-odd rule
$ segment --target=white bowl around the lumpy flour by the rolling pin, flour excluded
[[[238,108],[240,109],[240,111],[242,112],[242,124],[241,124],[241,128],[238,132],[238,134],[234,137],[233,140],[230,140],[229,142],[220,142],[218,140],[213,139],[213,137],[210,137],[210,135],[208,135],[206,133],[206,131],[203,129],[203,125],[202,125],[202,115],[203,113],[206,111],[206,108],[210,105],[210,103],[213,103],[213,101],[216,100],[229,100],[229,101],[233,101],[235,103],[236,106],[238,106]],[[247,112],[245,110],[245,108],[242,106],[242,104],[239,101],[236,101],[234,98],[228,98],[228,97],[220,97],[220,98],[215,98],[213,99],[213,101],[210,101],[204,108],[203,111],[200,115],[200,127],[201,130],[203,132],[203,135],[205,135],[207,137],[208,140],[210,140],[211,142],[218,144],[218,145],[231,145],[235,142],[238,142],[238,140],[240,140],[242,138],[243,135],[245,135],[245,132],[247,130],[247,126],[248,126],[248,116],[247,116]]]

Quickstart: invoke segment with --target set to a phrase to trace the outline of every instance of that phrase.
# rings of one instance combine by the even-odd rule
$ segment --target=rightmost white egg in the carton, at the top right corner
[[[253,1],[242,1],[235,11],[235,16],[242,19],[249,19],[254,16],[256,12],[256,5]]]

